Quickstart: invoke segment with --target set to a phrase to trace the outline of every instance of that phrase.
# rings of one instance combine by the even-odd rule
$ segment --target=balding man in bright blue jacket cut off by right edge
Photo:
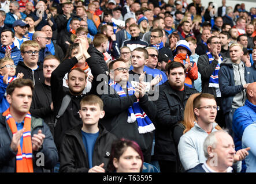
[[[250,83],[246,89],[247,100],[244,106],[236,109],[233,114],[233,132],[236,150],[242,148],[242,136],[248,125],[256,121],[256,82]],[[254,139],[255,140],[255,139]],[[242,171],[246,170],[246,165],[242,163]]]

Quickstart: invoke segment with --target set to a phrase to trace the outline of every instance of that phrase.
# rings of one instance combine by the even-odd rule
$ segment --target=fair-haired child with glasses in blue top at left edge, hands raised
[[[15,76],[16,65],[10,57],[3,57],[0,60],[0,113],[5,112],[9,108],[9,103],[6,100],[6,88],[8,84],[16,78],[23,78],[23,73],[18,73]]]

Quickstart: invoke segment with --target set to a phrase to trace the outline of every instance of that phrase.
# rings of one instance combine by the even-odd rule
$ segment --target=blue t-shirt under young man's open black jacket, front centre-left
[[[92,168],[92,155],[94,153],[94,144],[99,136],[99,132],[97,133],[86,133],[84,131],[82,132],[83,137],[83,143],[84,147],[86,148],[88,161],[89,161],[89,168]]]

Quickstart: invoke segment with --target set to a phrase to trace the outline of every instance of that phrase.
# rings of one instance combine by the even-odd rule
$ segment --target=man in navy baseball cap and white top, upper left
[[[25,37],[25,33],[27,32],[28,27],[29,24],[25,23],[23,20],[17,20],[13,23],[13,30],[15,35],[13,43],[18,49],[20,49],[20,45],[24,41],[29,40],[28,37]]]

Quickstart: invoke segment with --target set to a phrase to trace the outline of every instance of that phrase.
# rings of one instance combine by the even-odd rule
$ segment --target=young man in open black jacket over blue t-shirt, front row
[[[88,95],[80,102],[83,125],[67,131],[60,151],[60,172],[105,173],[116,136],[98,124],[105,116],[102,99]]]

